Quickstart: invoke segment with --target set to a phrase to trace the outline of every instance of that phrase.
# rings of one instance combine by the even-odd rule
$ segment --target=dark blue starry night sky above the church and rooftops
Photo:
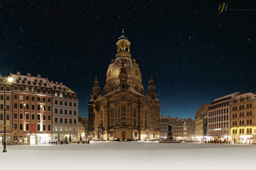
[[[256,9],[253,1],[225,2]],[[153,74],[161,115],[194,118],[214,98],[256,91],[256,13],[218,14],[222,3],[0,1],[0,74],[9,67],[63,82],[87,117],[95,74],[103,90],[124,28],[146,91]]]

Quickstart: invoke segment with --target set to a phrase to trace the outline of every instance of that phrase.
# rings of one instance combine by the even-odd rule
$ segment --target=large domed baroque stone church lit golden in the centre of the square
[[[90,140],[159,140],[160,106],[151,76],[144,92],[139,64],[132,59],[129,39],[118,39],[115,60],[107,69],[104,93],[95,77],[87,105]]]

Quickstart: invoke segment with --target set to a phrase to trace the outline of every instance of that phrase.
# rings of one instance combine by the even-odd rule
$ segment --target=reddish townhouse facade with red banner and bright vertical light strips
[[[46,79],[13,77],[13,144],[48,144],[52,141],[52,91]]]

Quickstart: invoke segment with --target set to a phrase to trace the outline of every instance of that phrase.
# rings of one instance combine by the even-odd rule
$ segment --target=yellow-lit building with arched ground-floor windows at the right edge
[[[236,96],[230,104],[230,135],[233,143],[256,143],[256,95]]]

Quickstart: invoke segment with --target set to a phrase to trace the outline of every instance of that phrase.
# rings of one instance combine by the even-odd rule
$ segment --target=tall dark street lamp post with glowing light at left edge
[[[4,149],[3,152],[7,152],[6,150],[6,96],[5,96],[5,90],[6,90],[6,73],[9,72],[10,75],[7,77],[7,81],[10,83],[14,80],[11,77],[11,69],[5,69],[4,71]]]

